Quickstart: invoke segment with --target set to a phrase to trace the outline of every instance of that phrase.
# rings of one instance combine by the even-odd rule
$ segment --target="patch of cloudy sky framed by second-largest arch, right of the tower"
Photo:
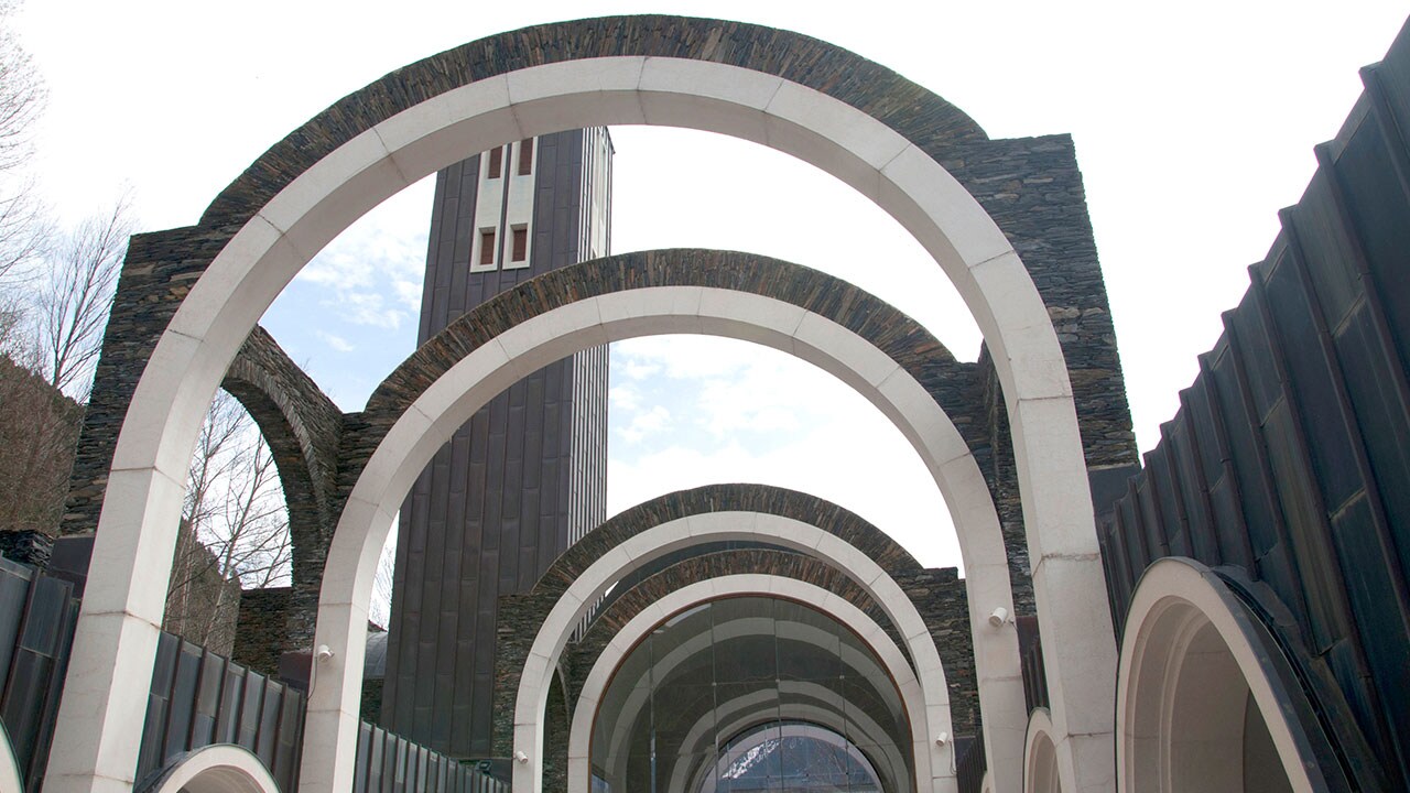
[[[650,353],[670,354],[681,337]],[[685,337],[695,347],[695,339]],[[871,521],[925,564],[959,564],[959,545],[939,490],[919,456],[856,391],[784,353],[705,340],[709,377],[633,381],[632,408],[613,402],[608,509],[711,483],[788,487],[842,504]],[[616,350],[613,350],[616,353]],[[618,357],[613,357],[616,363]],[[721,365],[718,361],[729,361]],[[684,371],[680,367],[677,371]],[[620,373],[613,370],[612,377]],[[678,420],[634,435],[653,413]],[[688,416],[688,419],[685,419]]]

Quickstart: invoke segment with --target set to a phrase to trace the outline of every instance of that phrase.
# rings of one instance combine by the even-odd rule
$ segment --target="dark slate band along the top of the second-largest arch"
[[[971,396],[979,367],[956,361],[935,336],[905,313],[840,278],[798,264],[737,251],[674,248],[618,254],[561,267],[509,289],[451,322],[399,364],[368,396],[367,406],[358,416],[358,442],[340,461],[343,488],[348,490],[357,483],[392,423],[471,351],[494,344],[498,337],[513,332],[526,320],[556,309],[618,292],[666,288],[675,289],[675,295],[681,298],[681,305],[675,309],[699,317],[698,325],[682,326],[682,332],[689,333],[725,330],[726,319],[715,316],[718,312],[712,312],[713,306],[698,305],[701,301],[719,302],[728,299],[728,293],[737,292],[777,303],[774,310],[783,315],[773,319],[752,317],[759,327],[744,339],[768,344],[763,339],[768,332],[788,333],[794,340],[788,341],[784,351],[823,368],[838,368],[829,360],[833,357],[849,364],[857,358],[857,354],[849,354],[852,350],[829,356],[815,349],[826,340],[818,320],[838,325],[853,334],[857,344],[873,347],[884,356],[876,358],[874,365],[884,367],[887,373],[898,367],[922,385],[946,416],[953,418],[953,428],[945,429],[945,454],[977,452],[988,444],[988,439],[979,430],[980,406]],[[577,319],[591,319],[587,306],[580,309],[587,310],[587,316]],[[644,313],[640,317],[599,317],[601,323],[611,322],[626,333],[636,334],[632,326],[649,323],[649,316],[661,313],[663,306],[627,306],[623,310]],[[807,327],[802,323],[808,323]],[[856,368],[857,371],[835,374],[850,385],[857,380],[877,380],[887,374],[860,365]],[[960,428],[966,435],[962,435]],[[1021,556],[1022,549],[1014,549],[1014,555]],[[1014,569],[1011,577],[1026,581],[1026,570]]]

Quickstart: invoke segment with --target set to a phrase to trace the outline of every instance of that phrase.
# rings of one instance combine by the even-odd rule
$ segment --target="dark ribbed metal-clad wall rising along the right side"
[[[1342,772],[1410,785],[1410,28],[1255,264],[1200,377],[1103,531],[1118,632],[1189,556],[1294,665]]]

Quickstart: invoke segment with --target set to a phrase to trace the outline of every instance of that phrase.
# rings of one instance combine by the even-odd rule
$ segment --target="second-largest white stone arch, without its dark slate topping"
[[[915,446],[945,494],[955,525],[963,526],[959,529],[960,546],[966,563],[970,622],[974,626],[976,672],[986,738],[991,741],[1000,761],[1011,758],[1012,765],[995,768],[1015,769],[1012,787],[1001,790],[1018,789],[1017,762],[1022,756],[1026,710],[1017,635],[1010,625],[994,629],[987,621],[995,604],[1012,607],[1008,563],[993,501],[969,447],[924,387],[860,336],[774,298],[701,286],[611,292],[526,319],[450,367],[388,430],[348,497],[329,550],[329,570],[352,570],[354,574],[324,576],[316,642],[331,648],[334,658],[317,669],[305,737],[306,741],[314,741],[313,745],[329,748],[330,753],[310,753],[310,744],[306,744],[300,785],[316,790],[338,790],[341,782],[331,780],[327,775],[345,773],[338,769],[351,768],[362,659],[361,650],[355,648],[361,648],[364,642],[376,559],[406,491],[434,452],[479,406],[530,371],[587,346],[681,332],[747,339],[809,360],[877,405]],[[776,516],[760,516],[766,518]],[[695,522],[709,519],[709,515],[689,518]],[[807,531],[811,535],[826,535],[815,526],[807,526]],[[788,532],[797,533],[792,529]],[[826,536],[842,542],[832,535]],[[640,542],[637,538],[632,542]],[[768,540],[780,542],[780,538]],[[639,547],[633,553],[651,550],[650,546],[633,547]],[[880,567],[852,546],[846,547],[843,562],[835,559],[833,563],[862,583],[874,580]],[[799,550],[814,553],[812,546]],[[871,577],[859,576],[856,570],[860,563],[876,573]],[[898,588],[895,593],[905,600]],[[582,603],[591,603],[596,594],[581,595]],[[909,605],[909,601],[905,603]],[[914,619],[912,635],[918,635],[924,631],[924,624],[918,615]],[[563,635],[565,638],[567,634]],[[554,655],[560,650],[561,643],[553,648]],[[935,653],[933,643],[929,652]],[[544,650],[543,655],[550,653]],[[533,660],[530,656],[530,663]],[[940,670],[938,656],[928,669]],[[541,703],[537,713],[543,713]],[[534,748],[525,749],[526,753],[540,753],[537,739],[541,738],[536,738]],[[1001,779],[1003,773],[1001,770]],[[321,786],[313,787],[313,779],[319,779]]]

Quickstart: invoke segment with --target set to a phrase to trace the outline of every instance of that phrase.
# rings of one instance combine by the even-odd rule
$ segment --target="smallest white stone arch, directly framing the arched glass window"
[[[725,515],[729,514],[726,512]],[[763,518],[764,515],[759,516]],[[780,519],[787,521],[787,518]],[[653,628],[668,619],[673,614],[692,608],[702,603],[719,600],[722,597],[744,594],[778,597],[805,603],[828,617],[832,617],[860,636],[862,642],[871,649],[876,659],[891,676],[895,683],[897,693],[907,708],[907,714],[911,721],[911,749],[915,762],[915,790],[936,790],[939,793],[953,793],[957,790],[955,785],[955,772],[950,770],[949,759],[943,751],[939,751],[935,746],[932,739],[932,735],[939,735],[940,730],[946,732],[950,731],[949,703],[946,700],[942,720],[936,720],[931,715],[935,713],[935,706],[931,701],[933,700],[933,693],[922,683],[925,673],[921,673],[921,679],[916,677],[915,670],[911,669],[911,665],[907,662],[901,648],[898,648],[895,642],[887,636],[885,631],[856,605],[852,605],[846,600],[842,600],[815,584],[781,576],[742,573],[697,581],[667,594],[629,619],[627,624],[618,631],[618,635],[613,636],[612,642],[603,648],[602,655],[598,656],[591,672],[588,672],[588,676],[584,679],[582,691],[578,694],[578,701],[572,711],[572,727],[568,732],[568,793],[584,793],[591,787],[592,721],[598,711],[598,703],[606,693],[612,673],[632,652],[636,643],[640,642]],[[541,635],[543,632],[540,632],[540,636]],[[926,634],[925,639],[929,642],[929,634]],[[915,642],[912,642],[912,652],[915,652],[914,643]],[[933,650],[933,643],[931,648]],[[943,686],[943,679],[940,680],[940,684]],[[523,691],[523,686],[520,686],[520,691]],[[517,731],[517,708],[515,721]],[[520,749],[517,741],[515,748],[516,751]],[[527,766],[536,762],[537,755],[533,755],[530,756],[529,763],[520,765]],[[519,789],[519,769],[516,768],[516,790]]]

